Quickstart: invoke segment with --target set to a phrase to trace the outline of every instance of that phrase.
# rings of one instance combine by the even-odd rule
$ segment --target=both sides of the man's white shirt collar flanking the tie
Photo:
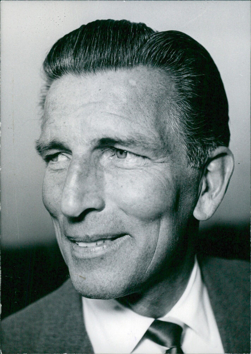
[[[194,267],[183,295],[175,306],[159,319],[176,322],[183,328],[188,326],[208,340],[210,336],[208,318],[213,316],[214,320],[208,302],[208,293],[195,257]],[[131,353],[154,321],[153,318],[133,312],[115,299],[83,298],[83,310],[86,330],[95,353],[122,353],[120,348],[123,348],[123,353]]]

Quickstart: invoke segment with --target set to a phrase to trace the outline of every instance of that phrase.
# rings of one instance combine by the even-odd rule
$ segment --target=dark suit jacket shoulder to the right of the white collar
[[[250,263],[198,257],[225,353],[250,353]]]

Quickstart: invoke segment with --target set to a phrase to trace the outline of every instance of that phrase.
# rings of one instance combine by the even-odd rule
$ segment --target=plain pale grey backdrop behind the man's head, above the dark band
[[[144,22],[179,30],[211,54],[229,102],[235,171],[213,223],[250,219],[249,1],[1,1],[1,244],[7,248],[53,240],[42,204],[44,164],[39,137],[41,66],[56,40],[95,19]]]

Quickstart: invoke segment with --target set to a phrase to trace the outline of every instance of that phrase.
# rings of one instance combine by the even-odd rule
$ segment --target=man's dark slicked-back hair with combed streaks
[[[59,39],[43,69],[48,89],[64,74],[142,65],[164,70],[173,82],[167,114],[189,165],[201,167],[217,146],[228,146],[228,102],[220,73],[205,48],[185,33],[155,32],[144,23],[125,20],[97,20]]]

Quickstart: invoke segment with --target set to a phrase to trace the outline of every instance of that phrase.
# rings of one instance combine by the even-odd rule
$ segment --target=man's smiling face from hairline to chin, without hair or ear
[[[84,296],[139,291],[182,262],[198,172],[171,131],[163,138],[167,82],[164,73],[135,68],[66,75],[48,91],[43,201]]]

